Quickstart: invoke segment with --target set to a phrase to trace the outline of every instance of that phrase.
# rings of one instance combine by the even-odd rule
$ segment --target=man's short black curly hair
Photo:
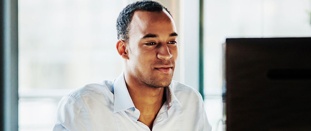
[[[117,19],[117,38],[128,41],[128,32],[130,30],[129,24],[132,21],[132,17],[135,11],[151,11],[160,12],[165,9],[169,15],[171,13],[159,2],[151,0],[137,1],[126,6],[119,14]],[[172,16],[172,15],[171,15]]]

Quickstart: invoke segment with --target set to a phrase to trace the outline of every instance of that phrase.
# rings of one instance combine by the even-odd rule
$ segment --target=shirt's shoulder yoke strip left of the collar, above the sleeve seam
[[[72,91],[68,92],[65,96],[71,97],[74,100],[77,100],[83,96],[96,94],[96,93],[103,93],[105,90],[113,91],[113,84],[114,81],[101,81],[97,83],[91,83],[84,85],[82,87],[73,89]]]

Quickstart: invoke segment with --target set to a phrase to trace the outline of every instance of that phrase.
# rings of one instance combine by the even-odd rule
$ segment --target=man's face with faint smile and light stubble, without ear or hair
[[[150,87],[167,87],[178,56],[177,33],[166,11],[135,11],[130,23],[127,70]]]

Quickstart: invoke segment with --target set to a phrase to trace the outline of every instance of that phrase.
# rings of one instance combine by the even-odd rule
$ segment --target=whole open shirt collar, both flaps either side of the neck
[[[166,88],[166,101],[169,108],[172,107],[175,102],[182,107],[176,95],[174,94],[171,85]],[[128,88],[125,84],[123,71],[120,76],[114,81],[114,112],[123,111],[133,107],[135,106],[130,94],[128,93]]]

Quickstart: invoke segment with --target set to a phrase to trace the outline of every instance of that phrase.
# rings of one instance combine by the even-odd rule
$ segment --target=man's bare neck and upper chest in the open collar
[[[126,86],[131,99],[140,111],[138,121],[147,125],[151,130],[157,113],[166,100],[165,88],[155,88],[144,84],[137,84],[125,76]]]

